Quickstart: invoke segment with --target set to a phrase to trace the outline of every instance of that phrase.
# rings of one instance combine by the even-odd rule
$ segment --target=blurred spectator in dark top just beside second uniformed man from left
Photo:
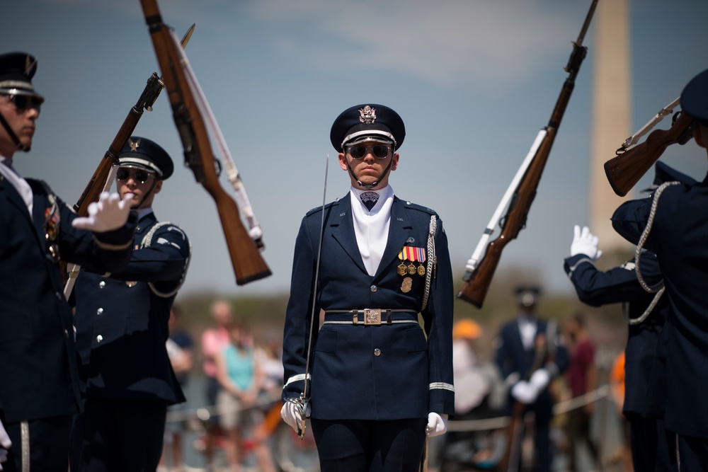
[[[182,311],[178,305],[173,305],[170,310],[169,330],[170,337],[167,340],[167,355],[170,358],[172,369],[175,372],[177,381],[184,391],[189,378],[189,372],[194,365],[194,343],[190,335],[182,329],[180,319]],[[162,449],[160,466],[166,467],[168,456],[171,458],[173,472],[182,471],[182,434],[186,427],[183,418],[179,418],[178,405],[170,405],[167,408],[167,422],[165,424],[165,444]],[[170,418],[170,412],[175,413],[175,418]],[[163,469],[167,470],[167,469]],[[158,468],[160,471],[160,468]]]

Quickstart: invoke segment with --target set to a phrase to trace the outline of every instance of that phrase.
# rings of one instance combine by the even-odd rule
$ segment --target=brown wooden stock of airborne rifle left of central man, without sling
[[[162,22],[156,0],[141,0],[145,21],[165,87],[172,105],[175,124],[184,147],[185,162],[217,205],[224,237],[231,257],[236,284],[242,285],[270,275],[261,253],[241,222],[236,202],[219,184],[217,161],[194,93],[183,70],[169,26]]]

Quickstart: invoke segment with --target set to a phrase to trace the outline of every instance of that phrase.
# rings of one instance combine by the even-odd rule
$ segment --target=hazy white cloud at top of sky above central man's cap
[[[282,26],[274,47],[319,67],[367,64],[492,92],[536,74],[559,52],[570,54],[584,19],[577,5],[542,8],[535,1],[261,0],[251,11]],[[289,34],[303,30],[309,34]],[[319,34],[329,40],[314,45]]]

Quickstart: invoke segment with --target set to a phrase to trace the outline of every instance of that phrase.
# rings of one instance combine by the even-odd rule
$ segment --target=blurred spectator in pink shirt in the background
[[[206,400],[207,405],[215,411],[217,395],[221,386],[217,379],[217,367],[214,357],[231,343],[231,326],[234,322],[232,306],[226,300],[215,300],[209,309],[214,327],[202,332],[202,369],[207,377]],[[214,467],[214,453],[216,443],[222,435],[219,418],[212,414],[205,421],[206,436],[204,439],[204,457],[207,468]]]

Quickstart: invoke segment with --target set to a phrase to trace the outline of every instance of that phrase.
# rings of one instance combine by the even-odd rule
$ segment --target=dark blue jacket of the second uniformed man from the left
[[[142,248],[156,224],[153,213],[139,219],[126,270],[110,277],[81,270],[76,280],[76,348],[86,396],[184,401],[165,343],[190,246],[178,226],[165,224]],[[149,282],[166,296],[157,295]]]

